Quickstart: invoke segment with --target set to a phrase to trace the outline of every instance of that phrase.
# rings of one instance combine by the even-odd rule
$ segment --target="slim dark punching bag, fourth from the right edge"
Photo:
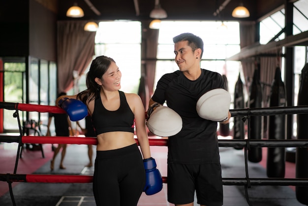
[[[243,82],[239,73],[238,80],[235,83],[234,89],[234,108],[235,109],[244,109],[244,92],[243,92]],[[242,117],[233,118],[234,127],[233,127],[233,139],[245,139],[245,128]],[[243,149],[243,147],[234,147],[234,149]]]

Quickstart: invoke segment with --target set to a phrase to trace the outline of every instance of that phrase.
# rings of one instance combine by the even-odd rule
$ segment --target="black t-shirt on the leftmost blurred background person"
[[[66,113],[49,113],[49,117],[54,117],[56,136],[69,137],[69,125]]]

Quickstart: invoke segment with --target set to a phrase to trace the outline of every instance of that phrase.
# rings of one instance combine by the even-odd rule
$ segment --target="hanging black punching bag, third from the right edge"
[[[260,84],[260,69],[254,70],[253,79],[250,86],[249,108],[262,107],[262,89]],[[250,116],[250,139],[262,138],[262,116]],[[249,137],[248,137],[249,138]],[[262,148],[250,147],[248,150],[248,160],[250,162],[260,162],[262,160]]]

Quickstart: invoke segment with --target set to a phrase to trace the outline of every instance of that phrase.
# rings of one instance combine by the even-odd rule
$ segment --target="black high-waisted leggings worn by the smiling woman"
[[[96,206],[137,206],[145,170],[137,144],[96,151],[93,194]]]

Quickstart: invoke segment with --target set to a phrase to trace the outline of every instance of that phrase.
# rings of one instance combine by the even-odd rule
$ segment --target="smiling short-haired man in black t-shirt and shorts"
[[[149,103],[151,108],[151,105],[162,105],[166,101],[183,120],[182,130],[168,140],[168,202],[176,206],[193,206],[196,192],[201,206],[221,206],[223,191],[217,121],[200,117],[196,104],[208,91],[226,89],[224,81],[217,72],[200,68],[203,54],[200,37],[184,33],[175,36],[173,42],[175,61],[180,70],[160,78]],[[227,108],[226,118],[219,121],[227,124],[230,117]]]

